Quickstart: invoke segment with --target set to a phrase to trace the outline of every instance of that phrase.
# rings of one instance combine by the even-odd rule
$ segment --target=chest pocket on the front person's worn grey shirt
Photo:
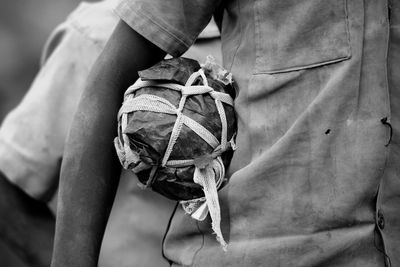
[[[346,0],[256,0],[256,73],[281,73],[351,57]]]

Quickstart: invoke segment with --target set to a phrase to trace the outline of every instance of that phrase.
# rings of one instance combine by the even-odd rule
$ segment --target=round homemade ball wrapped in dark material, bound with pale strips
[[[195,168],[232,158],[236,119],[228,72],[212,61],[163,60],[125,93],[115,146],[125,168],[173,200],[204,196]],[[218,175],[216,175],[217,177]],[[223,177],[222,177],[223,178]],[[216,181],[218,188],[223,182]]]

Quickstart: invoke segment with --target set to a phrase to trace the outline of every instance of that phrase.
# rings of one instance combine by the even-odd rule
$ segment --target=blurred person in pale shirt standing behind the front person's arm
[[[0,237],[29,266],[50,265],[54,205],[51,210],[48,203],[56,192],[64,141],[89,70],[118,22],[112,11],[118,2],[82,3],[54,30],[40,72],[0,128]],[[185,56],[201,62],[208,54],[221,62],[213,23]],[[100,266],[169,265],[161,244],[176,203],[139,189],[137,182],[123,171]]]

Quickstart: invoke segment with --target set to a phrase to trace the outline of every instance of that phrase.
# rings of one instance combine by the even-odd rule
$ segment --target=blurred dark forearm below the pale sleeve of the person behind
[[[55,218],[0,173],[0,239],[32,267],[50,265]]]

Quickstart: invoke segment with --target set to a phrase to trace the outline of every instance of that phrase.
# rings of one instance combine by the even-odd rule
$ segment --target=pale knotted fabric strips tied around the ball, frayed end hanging
[[[199,77],[203,85],[193,85]],[[179,106],[176,107],[168,100],[151,94],[142,94],[134,97],[133,93],[143,87],[167,88],[181,92]],[[215,100],[215,105],[221,119],[221,140],[218,140],[204,126],[182,113],[187,97],[199,94],[209,94]],[[162,158],[161,166],[177,168],[195,165],[193,181],[202,187],[204,197],[181,201],[180,203],[185,212],[196,220],[204,220],[207,214],[210,214],[212,229],[216,234],[217,241],[222,245],[223,249],[226,250],[227,243],[221,232],[221,211],[217,192],[225,177],[225,167],[220,155],[227,149],[234,149],[235,144],[233,138],[230,141],[227,140],[227,119],[223,103],[233,106],[233,99],[226,93],[214,91],[214,89],[208,85],[203,69],[194,72],[187,80],[185,86],[156,81],[142,81],[139,79],[125,92],[124,103],[118,113],[119,138],[115,138],[114,144],[122,166],[134,172],[139,172],[142,166],[140,164],[140,157],[129,147],[128,136],[124,133],[127,127],[128,114],[134,111],[149,111],[176,115],[177,118],[168,146]],[[196,159],[169,160],[183,125],[189,127],[213,148],[214,152],[211,155],[212,160],[210,162],[198,164]]]

